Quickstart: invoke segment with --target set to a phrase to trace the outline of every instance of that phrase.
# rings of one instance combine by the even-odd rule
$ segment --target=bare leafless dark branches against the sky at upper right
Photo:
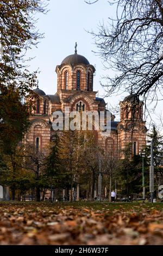
[[[91,32],[105,67],[117,71],[115,77],[106,76],[108,94],[124,88],[145,100],[147,97],[160,99],[163,82],[162,1],[111,0],[109,3],[116,6],[116,17],[109,18],[111,24],[101,23],[98,32]]]

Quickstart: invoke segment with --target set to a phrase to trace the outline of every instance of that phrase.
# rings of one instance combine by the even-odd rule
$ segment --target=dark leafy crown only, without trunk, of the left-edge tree
[[[28,110],[26,104],[22,104],[18,90],[6,89],[0,94],[0,147],[5,154],[13,154],[27,132]]]

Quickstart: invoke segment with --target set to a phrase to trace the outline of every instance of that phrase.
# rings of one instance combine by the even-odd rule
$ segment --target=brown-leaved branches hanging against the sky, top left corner
[[[0,3],[0,89],[17,88],[21,95],[30,92],[35,72],[26,68],[26,51],[42,38],[36,30],[36,13],[46,13],[42,0],[1,1]],[[1,106],[0,106],[1,107]]]

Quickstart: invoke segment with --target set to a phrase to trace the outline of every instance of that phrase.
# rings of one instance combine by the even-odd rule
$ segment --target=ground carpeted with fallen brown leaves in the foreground
[[[162,245],[163,203],[0,202],[0,245]]]

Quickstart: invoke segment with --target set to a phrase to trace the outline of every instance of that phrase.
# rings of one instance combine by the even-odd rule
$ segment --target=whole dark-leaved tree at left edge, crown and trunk
[[[17,166],[17,147],[29,128],[29,111],[22,104],[18,90],[6,90],[0,94],[0,151],[10,168],[12,200],[15,199]],[[9,180],[8,180],[9,181]]]

